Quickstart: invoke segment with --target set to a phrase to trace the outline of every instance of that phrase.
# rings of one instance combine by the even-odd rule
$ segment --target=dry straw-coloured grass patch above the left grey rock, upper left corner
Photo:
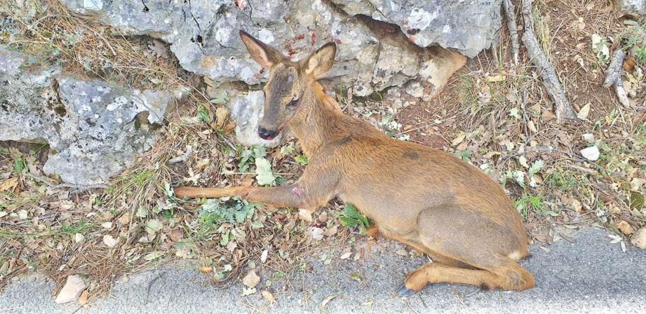
[[[149,48],[161,41],[123,36],[73,15],[56,0],[24,1],[22,8],[15,1],[2,1],[0,14],[11,21],[0,30],[0,45],[37,56],[46,64],[60,64],[69,73],[133,88],[184,84],[175,57],[170,53],[159,57]]]

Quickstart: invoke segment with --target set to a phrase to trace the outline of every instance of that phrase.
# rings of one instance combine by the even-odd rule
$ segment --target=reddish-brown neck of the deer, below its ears
[[[337,130],[335,121],[341,112],[335,107],[336,102],[325,95],[318,82],[314,82],[304,91],[300,110],[290,121],[290,129],[298,138],[306,156],[321,147]]]

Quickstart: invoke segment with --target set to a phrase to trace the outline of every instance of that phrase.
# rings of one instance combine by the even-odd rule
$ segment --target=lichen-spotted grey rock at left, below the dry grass
[[[126,90],[58,67],[30,69],[32,61],[0,49],[0,140],[48,144],[43,171],[63,182],[100,184],[132,165],[154,142],[149,123],[161,123],[174,103],[166,91]]]

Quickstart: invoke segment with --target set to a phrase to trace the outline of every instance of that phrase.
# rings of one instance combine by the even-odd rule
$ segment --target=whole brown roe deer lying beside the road
[[[524,290],[534,276],[517,261],[527,235],[511,200],[494,180],[456,156],[384,135],[346,116],[317,79],[334,63],[326,43],[299,62],[241,31],[251,57],[269,69],[258,133],[292,130],[309,165],[287,186],[224,189],[177,187],[178,197],[243,196],[311,214],[338,197],[375,222],[381,234],[428,254],[433,263],[413,271],[398,289],[411,295],[427,283],[454,282],[485,289]]]

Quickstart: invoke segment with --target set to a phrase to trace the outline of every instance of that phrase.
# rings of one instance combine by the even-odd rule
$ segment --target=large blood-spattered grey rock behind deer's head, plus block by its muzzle
[[[215,83],[253,85],[267,79],[267,71],[250,58],[238,38],[239,29],[295,60],[335,41],[336,63],[328,78],[351,87],[356,96],[413,80],[437,90],[466,62],[462,55],[473,56],[490,46],[500,27],[501,5],[501,0],[60,2],[123,34],[147,34],[170,43],[185,70]],[[258,108],[243,112],[251,107],[241,102],[247,100],[231,97],[228,104],[231,112],[239,113],[233,116],[236,123],[247,125],[238,130],[238,140],[264,144],[255,135],[254,123],[241,120],[258,116]]]

